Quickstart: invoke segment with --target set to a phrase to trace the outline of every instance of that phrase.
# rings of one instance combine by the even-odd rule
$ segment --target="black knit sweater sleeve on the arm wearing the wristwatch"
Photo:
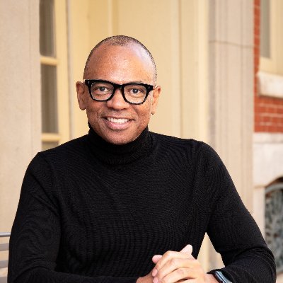
[[[205,151],[207,190],[212,200],[207,233],[225,265],[219,270],[233,283],[275,282],[275,260],[260,229],[241,201],[224,163],[210,146]]]

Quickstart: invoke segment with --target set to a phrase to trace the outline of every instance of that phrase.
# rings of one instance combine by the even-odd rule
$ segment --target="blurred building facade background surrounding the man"
[[[0,0],[0,14],[0,232],[31,158],[88,132],[75,88],[88,53],[129,35],[162,86],[149,129],[214,147],[283,282],[283,0]],[[208,237],[200,261],[221,265]]]

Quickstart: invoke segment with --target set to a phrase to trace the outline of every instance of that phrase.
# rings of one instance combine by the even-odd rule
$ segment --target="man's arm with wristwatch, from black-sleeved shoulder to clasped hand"
[[[198,174],[200,180],[205,180],[210,202],[207,210],[211,211],[207,233],[226,265],[221,271],[233,283],[275,282],[273,255],[241,202],[221,159],[205,144],[201,159],[197,168],[203,171]],[[156,266],[151,274],[154,283],[195,282],[195,279],[197,282],[217,282],[213,275],[204,273],[200,262],[192,255],[187,257],[180,252],[168,251],[154,263]]]

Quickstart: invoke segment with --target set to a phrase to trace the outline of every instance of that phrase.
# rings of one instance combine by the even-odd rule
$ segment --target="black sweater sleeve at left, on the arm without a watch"
[[[47,162],[37,154],[28,166],[13,223],[8,283],[134,283],[137,277],[86,277],[56,271],[60,243],[59,204]]]

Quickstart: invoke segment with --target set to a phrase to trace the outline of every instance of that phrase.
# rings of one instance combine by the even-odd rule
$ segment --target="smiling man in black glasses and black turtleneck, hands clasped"
[[[275,282],[272,253],[219,156],[149,132],[161,87],[144,45],[100,42],[76,91],[90,130],[30,163],[8,282]],[[197,260],[206,232],[220,272]]]

